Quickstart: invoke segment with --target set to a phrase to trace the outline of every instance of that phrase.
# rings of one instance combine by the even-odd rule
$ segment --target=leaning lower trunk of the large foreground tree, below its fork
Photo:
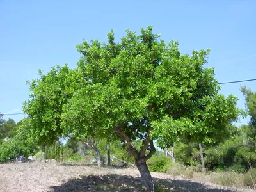
[[[148,166],[146,162],[140,162],[140,160],[136,160],[135,164],[140,171],[140,175],[142,177],[142,180],[144,182],[145,187],[147,188],[148,192],[153,192],[155,191],[155,186],[154,186],[154,181],[151,177],[151,174],[148,170]]]

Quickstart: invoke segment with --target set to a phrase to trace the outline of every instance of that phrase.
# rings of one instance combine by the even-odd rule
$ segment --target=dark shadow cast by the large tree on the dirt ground
[[[210,191],[210,192],[231,192],[228,189],[209,188],[205,184],[190,182],[187,180],[164,180],[154,178],[158,186],[163,191]],[[62,191],[145,191],[142,186],[141,177],[131,177],[127,175],[102,175],[84,176],[80,179],[68,180],[61,186],[52,186],[51,192]],[[48,191],[48,192],[50,192]]]

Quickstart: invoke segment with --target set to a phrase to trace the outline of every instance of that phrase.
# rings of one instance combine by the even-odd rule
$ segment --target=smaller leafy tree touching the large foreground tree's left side
[[[27,82],[31,94],[23,109],[28,114],[30,127],[33,127],[30,129],[31,139],[42,146],[45,160],[45,146],[58,141],[63,133],[60,129],[63,104],[76,88],[76,70],[57,65],[46,75],[38,70],[38,75],[40,79]]]

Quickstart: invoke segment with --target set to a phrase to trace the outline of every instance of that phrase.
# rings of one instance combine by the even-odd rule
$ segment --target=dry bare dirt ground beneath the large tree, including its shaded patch
[[[166,191],[244,191],[152,172]],[[97,168],[58,163],[0,164],[0,191],[145,191],[136,168]],[[248,190],[247,190],[248,191]]]

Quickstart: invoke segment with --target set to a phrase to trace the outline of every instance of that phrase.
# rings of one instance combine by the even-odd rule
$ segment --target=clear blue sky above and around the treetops
[[[26,80],[54,65],[76,67],[83,39],[117,39],[125,29],[154,26],[161,38],[178,40],[180,51],[211,48],[207,67],[219,82],[256,78],[256,1],[17,1],[0,0],[0,112],[22,113]],[[224,84],[221,93],[239,97],[256,81]],[[19,121],[23,115],[5,115]],[[243,121],[246,123],[246,120]]]

